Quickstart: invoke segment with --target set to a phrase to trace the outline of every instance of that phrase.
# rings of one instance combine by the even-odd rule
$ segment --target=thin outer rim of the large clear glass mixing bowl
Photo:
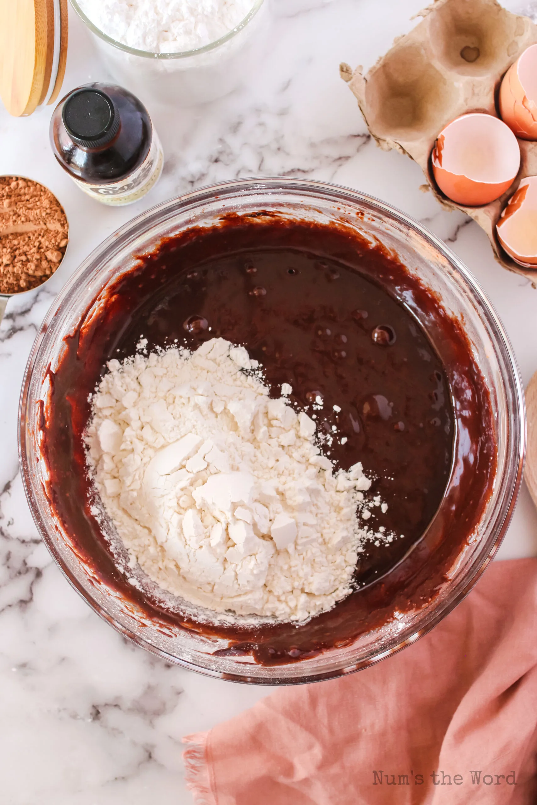
[[[478,315],[482,320],[486,321],[486,323],[489,325],[489,328],[494,333],[494,338],[498,344],[498,347],[500,348],[499,351],[502,353],[503,361],[506,364],[507,374],[509,374],[510,382],[512,384],[510,386],[510,390],[514,402],[512,415],[508,420],[509,427],[507,432],[507,436],[511,440],[511,450],[509,453],[510,460],[506,465],[506,470],[502,479],[507,487],[502,503],[502,510],[499,514],[497,514],[495,520],[489,523],[489,532],[492,531],[493,533],[489,533],[488,539],[485,540],[486,544],[483,552],[478,558],[478,561],[476,562],[474,559],[471,566],[471,572],[469,572],[462,579],[458,580],[456,584],[453,584],[450,595],[448,596],[448,601],[444,601],[444,605],[440,606],[435,612],[428,613],[428,617],[424,615],[423,620],[425,622],[422,623],[419,628],[416,628],[411,635],[401,639],[401,641],[397,644],[390,646],[389,649],[383,650],[378,654],[374,654],[374,656],[359,660],[357,663],[347,663],[345,667],[340,667],[337,671],[330,670],[326,672],[316,672],[312,675],[301,675],[300,666],[302,666],[303,663],[297,663],[295,665],[297,675],[292,678],[289,676],[279,677],[278,667],[274,667],[273,671],[275,673],[273,676],[271,676],[271,678],[268,679],[266,677],[256,676],[255,666],[248,667],[248,674],[246,671],[242,675],[228,672],[225,673],[226,680],[241,683],[269,685],[311,683],[314,681],[320,681],[322,679],[333,679],[337,676],[352,673],[354,671],[360,671],[363,668],[370,667],[379,660],[386,658],[387,656],[390,656],[399,650],[402,650],[406,646],[411,645],[412,642],[415,642],[416,639],[423,637],[424,634],[428,634],[428,632],[432,630],[437,623],[448,615],[448,613],[450,613],[452,609],[454,609],[456,605],[458,605],[463,598],[465,598],[470,589],[473,588],[473,585],[477,582],[481,576],[481,573],[485,571],[485,568],[488,566],[489,562],[494,558],[496,551],[498,551],[498,547],[502,543],[502,539],[506,534],[507,527],[509,526],[510,519],[514,511],[514,506],[517,501],[518,490],[523,477],[527,435],[526,407],[522,381],[518,373],[518,366],[508,336],[506,335],[501,320],[498,318],[498,314],[495,312],[484,292],[481,290],[481,287],[477,283],[476,279],[473,278],[473,275],[470,273],[469,269],[456,256],[456,254],[454,254],[448,248],[448,246],[444,244],[444,242],[429,232],[428,229],[423,227],[423,225],[419,224],[419,221],[415,221],[415,219],[408,216],[406,213],[403,213],[399,209],[392,207],[390,204],[386,204],[386,202],[383,202],[382,200],[378,200],[374,196],[368,196],[364,193],[354,191],[352,188],[346,188],[341,185],[328,184],[314,180],[287,180],[284,178],[266,179],[264,177],[234,180],[206,186],[185,194],[184,196],[180,196],[179,198],[167,200],[162,204],[150,208],[138,217],[128,221],[125,225],[116,230],[115,233],[112,233],[108,238],[106,238],[106,240],[102,242],[100,246],[97,246],[97,248],[93,250],[92,254],[89,254],[89,257],[86,258],[81,266],[75,271],[72,277],[68,279],[68,282],[65,283],[64,288],[60,291],[60,294],[52,303],[51,308],[49,308],[48,313],[43,320],[43,324],[41,325],[41,328],[35,337],[35,342],[27,361],[19,402],[19,461],[27,502],[30,506],[35,524],[38,527],[38,530],[43,538],[43,541],[47,545],[48,550],[56,560],[56,564],[58,564],[60,570],[64,573],[64,576],[68,579],[70,584],[72,584],[72,587],[76,589],[76,592],[81,594],[81,597],[85,599],[85,601],[95,612],[97,612],[97,614],[101,615],[101,617],[112,625],[114,629],[118,630],[118,632],[127,638],[130,638],[130,640],[132,640],[136,645],[141,646],[154,654],[158,654],[168,662],[186,667],[189,670],[196,671],[203,675],[209,675],[221,679],[221,671],[207,667],[200,667],[199,665],[196,665],[196,663],[192,663],[184,658],[178,658],[175,655],[160,649],[158,646],[152,645],[151,642],[145,641],[141,634],[136,634],[132,630],[126,628],[126,626],[116,621],[110,613],[108,613],[103,607],[101,607],[101,605],[97,603],[97,601],[93,600],[93,597],[91,597],[89,592],[87,592],[82,584],[76,579],[76,576],[74,576],[72,572],[70,572],[65,566],[59,551],[56,549],[54,541],[48,534],[48,529],[43,522],[43,518],[41,517],[41,513],[39,511],[39,505],[37,505],[35,494],[32,489],[32,477],[29,466],[30,456],[27,454],[26,411],[27,393],[31,385],[32,374],[34,370],[42,368],[37,365],[36,358],[38,356],[43,338],[48,331],[48,325],[54,316],[56,316],[56,313],[60,310],[64,299],[69,295],[73,288],[81,287],[81,285],[83,285],[85,275],[88,272],[91,273],[93,263],[97,259],[101,259],[102,261],[103,255],[107,254],[109,250],[112,250],[113,252],[118,250],[118,248],[127,241],[131,234],[133,236],[138,234],[141,231],[142,226],[144,226],[144,228],[148,228],[150,224],[155,225],[159,221],[167,221],[167,213],[180,213],[181,210],[193,208],[202,204],[204,201],[214,200],[215,198],[223,200],[228,196],[240,197],[245,192],[247,196],[248,191],[267,193],[279,191],[288,193],[294,192],[297,196],[306,197],[310,203],[312,199],[315,200],[315,198],[319,198],[323,200],[344,200],[345,202],[350,202],[353,204],[366,204],[376,208],[381,214],[386,213],[389,217],[393,217],[396,221],[406,225],[409,229],[415,230],[417,233],[419,233],[419,235],[425,238],[429,244],[434,246],[436,250],[440,251],[444,258],[447,258],[452,266],[463,276],[465,283],[467,283],[470,291],[473,294],[473,303],[478,311]],[[492,539],[493,537],[494,539]],[[485,550],[486,553],[484,552]]]

